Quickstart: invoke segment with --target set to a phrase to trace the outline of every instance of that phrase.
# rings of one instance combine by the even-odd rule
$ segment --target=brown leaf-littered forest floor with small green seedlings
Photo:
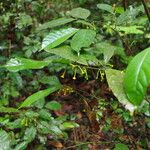
[[[80,127],[69,131],[66,142],[50,142],[51,146],[64,150],[106,150],[124,143],[130,150],[142,150],[148,143],[150,148],[150,130],[145,126],[145,118],[124,113],[106,81],[62,79],[61,82],[66,88],[55,96],[63,107],[55,115],[74,114]]]

